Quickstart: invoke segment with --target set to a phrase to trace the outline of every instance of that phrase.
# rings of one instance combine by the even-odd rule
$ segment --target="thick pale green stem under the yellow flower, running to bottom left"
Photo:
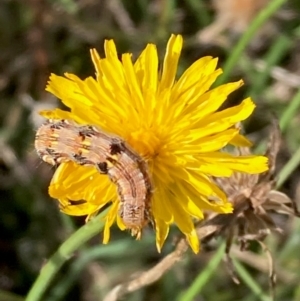
[[[72,257],[74,251],[78,250],[89,239],[98,234],[104,226],[103,217],[106,211],[102,212],[90,222],[78,229],[72,234],[48,260],[42,268],[38,278],[31,287],[25,301],[42,300],[43,294],[50,285],[52,279],[63,266],[63,264]]]

